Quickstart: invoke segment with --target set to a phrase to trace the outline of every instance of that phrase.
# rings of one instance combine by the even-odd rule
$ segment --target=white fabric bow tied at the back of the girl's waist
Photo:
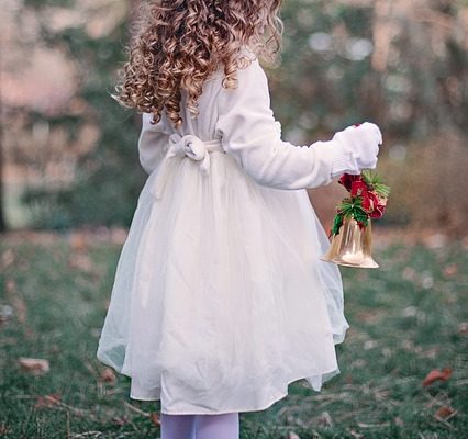
[[[163,190],[167,183],[171,158],[183,156],[198,161],[203,175],[210,173],[210,154],[204,142],[192,134],[187,134],[182,137],[179,133],[172,133],[169,136],[169,149],[160,164],[153,190],[157,200],[161,198]]]

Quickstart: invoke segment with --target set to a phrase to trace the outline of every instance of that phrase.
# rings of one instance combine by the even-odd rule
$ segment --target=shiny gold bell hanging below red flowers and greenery
[[[345,216],[339,233],[332,238],[328,251],[320,259],[346,267],[379,267],[371,255],[370,219],[366,228],[361,230],[356,219]]]

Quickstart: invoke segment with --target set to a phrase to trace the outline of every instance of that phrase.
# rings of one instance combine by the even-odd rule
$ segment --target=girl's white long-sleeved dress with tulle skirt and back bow
[[[255,59],[238,88],[203,86],[200,114],[143,115],[148,172],[116,267],[98,359],[131,376],[133,399],[167,414],[260,410],[307,379],[339,372],[348,324],[338,268],[305,188],[345,157],[282,142]],[[185,95],[182,94],[182,109]]]

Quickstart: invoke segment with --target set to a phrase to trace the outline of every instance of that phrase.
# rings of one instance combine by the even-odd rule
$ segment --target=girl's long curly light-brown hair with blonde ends
[[[237,87],[237,69],[256,56],[275,61],[281,45],[281,0],[153,0],[142,7],[114,98],[159,122],[166,109],[178,127],[181,91],[194,117],[204,81],[223,68],[224,88]]]

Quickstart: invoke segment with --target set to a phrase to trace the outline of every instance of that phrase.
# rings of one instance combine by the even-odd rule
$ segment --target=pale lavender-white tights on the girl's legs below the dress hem
[[[160,439],[238,439],[238,413],[160,415]]]

